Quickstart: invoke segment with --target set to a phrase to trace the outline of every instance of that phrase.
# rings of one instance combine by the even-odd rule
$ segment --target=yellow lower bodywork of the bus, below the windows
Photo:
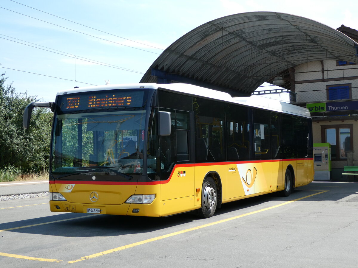
[[[221,203],[284,190],[286,169],[293,171],[295,187],[313,181],[313,159],[260,160],[243,162],[177,164],[168,180],[153,182],[50,181],[50,192],[67,201],[50,201],[54,212],[162,217],[198,209],[207,176],[218,184]],[[91,200],[91,193],[97,196]],[[133,194],[155,194],[151,204],[128,204]],[[133,212],[133,209],[139,209]]]

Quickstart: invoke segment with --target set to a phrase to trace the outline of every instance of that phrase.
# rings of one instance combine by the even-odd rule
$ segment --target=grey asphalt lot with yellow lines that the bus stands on
[[[57,213],[48,200],[0,202],[1,267],[356,268],[358,263],[358,183],[315,181],[289,197],[265,194],[225,203],[205,219],[193,213],[161,218]]]

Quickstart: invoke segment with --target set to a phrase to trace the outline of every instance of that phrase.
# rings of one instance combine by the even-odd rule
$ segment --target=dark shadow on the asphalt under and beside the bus
[[[325,190],[328,192],[301,199],[297,202],[340,201],[347,198],[347,201],[349,201],[349,199],[357,199],[356,202],[358,202],[358,183],[313,182],[309,185],[296,188],[289,197],[279,197],[277,193],[270,193],[222,204],[221,208],[217,209],[215,216],[235,212],[260,204],[264,205],[266,202],[270,201],[280,201],[280,203],[283,203]],[[213,222],[217,220],[215,219],[215,216],[211,219],[199,219],[194,212],[163,218],[61,213],[48,217],[3,223],[0,224],[0,230],[23,227],[7,231],[55,235],[62,237],[108,237],[125,234],[149,233],[155,230],[196,221],[198,223],[195,224],[195,226],[197,226],[208,223],[208,221]]]

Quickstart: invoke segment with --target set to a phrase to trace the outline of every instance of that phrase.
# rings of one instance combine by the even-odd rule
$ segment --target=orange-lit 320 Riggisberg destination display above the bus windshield
[[[125,90],[110,92],[84,92],[78,94],[64,94],[59,96],[60,109],[66,111],[86,110],[100,107],[141,107],[143,106],[144,91]]]

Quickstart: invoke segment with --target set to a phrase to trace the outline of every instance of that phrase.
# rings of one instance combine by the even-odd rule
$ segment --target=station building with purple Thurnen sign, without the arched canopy
[[[358,41],[358,31],[347,26],[337,30]],[[332,176],[346,180],[344,166],[358,165],[358,58],[309,61],[282,73],[295,92],[291,103],[310,110],[314,143],[330,143]],[[288,75],[287,75],[288,73]],[[353,157],[347,159],[347,152]]]

